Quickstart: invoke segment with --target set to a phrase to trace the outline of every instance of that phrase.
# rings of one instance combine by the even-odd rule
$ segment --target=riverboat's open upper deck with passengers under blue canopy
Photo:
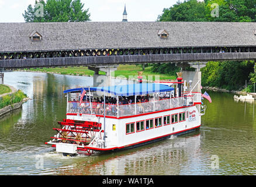
[[[64,93],[89,92],[83,101],[68,101],[67,114],[104,115],[103,98],[94,98],[91,92],[105,96],[105,116],[124,117],[166,109],[193,106],[199,103],[200,93],[186,93],[176,97],[174,88],[164,84],[131,84],[94,88],[76,88]],[[106,93],[112,96],[106,96]],[[91,100],[91,101],[89,101]]]

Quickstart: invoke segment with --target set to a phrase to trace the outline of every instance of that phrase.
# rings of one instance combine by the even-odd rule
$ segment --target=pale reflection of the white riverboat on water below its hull
[[[180,175],[196,170],[200,159],[198,131],[189,137],[172,137],[132,150],[77,158],[72,164],[57,168],[57,172],[61,175]]]

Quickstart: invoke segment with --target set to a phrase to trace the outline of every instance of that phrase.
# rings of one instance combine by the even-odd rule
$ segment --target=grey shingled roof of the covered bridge
[[[256,46],[256,23],[0,23],[0,52],[151,47]],[[158,31],[168,32],[167,38]],[[33,32],[42,36],[32,41]]]

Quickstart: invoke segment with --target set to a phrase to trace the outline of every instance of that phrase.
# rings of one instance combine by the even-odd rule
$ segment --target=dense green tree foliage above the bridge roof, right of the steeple
[[[218,5],[219,16],[212,16]],[[256,0],[178,1],[158,15],[160,22],[255,22]]]

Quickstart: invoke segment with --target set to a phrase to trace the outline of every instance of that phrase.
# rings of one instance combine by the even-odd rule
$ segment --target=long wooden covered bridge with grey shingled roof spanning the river
[[[256,23],[0,23],[0,68],[254,60]]]

